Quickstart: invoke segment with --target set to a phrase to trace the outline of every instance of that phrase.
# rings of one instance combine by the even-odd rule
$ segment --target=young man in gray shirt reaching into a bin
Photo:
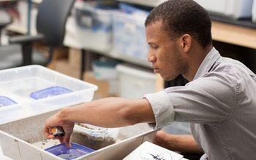
[[[212,47],[206,10],[192,0],[169,0],[151,11],[145,25],[154,72],[165,80],[182,74],[189,83],[140,100],[109,97],[64,108],[46,121],[46,137],[54,137],[51,127],[61,126],[66,135],[56,138],[69,146],[74,122],[101,127],[148,122],[161,129],[184,121],[193,137],[159,131],[154,143],[173,151],[203,151],[201,159],[255,159],[256,76]]]

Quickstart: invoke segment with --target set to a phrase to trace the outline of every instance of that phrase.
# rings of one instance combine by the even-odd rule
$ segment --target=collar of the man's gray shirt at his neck
[[[210,68],[214,65],[216,60],[220,57],[219,52],[214,47],[211,49],[210,52],[206,55],[205,59],[201,63],[200,67],[197,70],[197,73],[195,74],[195,77],[193,80],[198,79],[200,76],[203,76],[203,74],[208,73]]]

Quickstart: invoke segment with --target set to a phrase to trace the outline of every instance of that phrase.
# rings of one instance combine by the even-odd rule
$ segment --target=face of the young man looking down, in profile
[[[170,35],[163,31],[161,21],[146,27],[146,41],[149,45],[148,61],[152,63],[154,73],[169,81],[184,71],[178,41],[172,41]]]

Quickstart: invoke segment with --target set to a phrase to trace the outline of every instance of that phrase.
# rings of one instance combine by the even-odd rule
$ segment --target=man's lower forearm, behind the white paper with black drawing
[[[169,135],[163,130],[159,130],[154,138],[156,145],[167,148],[170,151],[181,153],[203,153],[195,143],[192,135]]]

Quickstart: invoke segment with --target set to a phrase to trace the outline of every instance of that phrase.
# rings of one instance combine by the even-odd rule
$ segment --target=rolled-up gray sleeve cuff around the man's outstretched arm
[[[150,123],[149,126],[153,129],[162,129],[167,124],[172,124],[175,118],[173,104],[170,101],[167,93],[164,91],[146,94],[145,98],[151,104],[154,111],[156,123]]]

